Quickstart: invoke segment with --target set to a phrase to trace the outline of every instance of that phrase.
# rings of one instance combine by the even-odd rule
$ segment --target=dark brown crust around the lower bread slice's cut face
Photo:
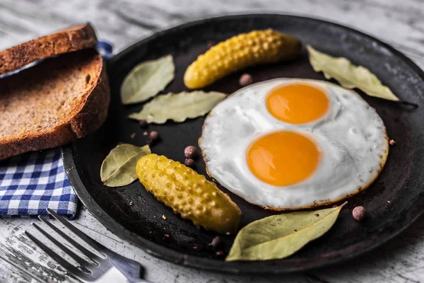
[[[78,52],[73,55],[78,56]],[[37,151],[68,144],[77,138],[85,137],[90,132],[94,132],[105,122],[110,104],[110,88],[102,57],[97,52],[95,52],[95,56],[92,64],[96,77],[91,78],[95,80],[95,86],[83,94],[78,105],[73,108],[74,113],[72,113],[71,119],[48,131],[38,132],[26,137],[16,137],[12,140],[0,139],[0,159],[27,151]],[[19,74],[15,76],[19,76]]]

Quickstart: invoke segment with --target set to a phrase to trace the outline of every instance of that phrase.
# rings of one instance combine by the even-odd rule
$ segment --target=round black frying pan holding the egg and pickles
[[[141,110],[141,104],[124,106],[119,100],[119,88],[124,76],[136,64],[172,54],[176,64],[175,80],[165,92],[186,88],[183,74],[187,66],[207,49],[207,42],[225,40],[238,33],[254,29],[273,28],[295,35],[306,44],[334,56],[343,56],[370,69],[402,100],[419,105],[408,108],[399,103],[363,95],[384,120],[392,146],[387,164],[379,178],[367,190],[348,199],[333,228],[295,255],[283,260],[262,262],[225,262],[225,254],[234,236],[221,236],[218,248],[208,246],[217,233],[196,228],[191,221],[175,215],[172,209],[155,200],[143,186],[134,182],[120,188],[102,185],[100,165],[119,142],[146,144],[137,122],[126,119],[129,113]],[[165,260],[220,272],[277,273],[307,270],[365,253],[400,233],[418,218],[424,209],[424,74],[410,59],[379,40],[341,25],[312,18],[287,15],[241,15],[210,18],[179,25],[148,37],[113,57],[108,66],[112,103],[109,117],[95,134],[64,146],[63,156],[69,180],[83,204],[107,229],[148,253]],[[307,54],[290,63],[252,67],[248,72],[254,81],[278,77],[324,80],[310,66]],[[232,93],[240,88],[237,72],[208,86],[206,91]],[[360,117],[358,117],[360,119]],[[151,125],[161,141],[153,152],[177,161],[184,161],[184,148],[197,145],[204,117],[176,124]],[[134,139],[131,134],[136,133]],[[196,171],[205,174],[200,159]],[[229,193],[243,212],[242,226],[275,214],[245,202]],[[132,206],[129,203],[132,202]],[[353,207],[363,205],[367,219],[358,223],[351,216]],[[162,215],[167,217],[166,220]],[[169,236],[165,236],[165,233]],[[217,251],[223,251],[223,255]]]

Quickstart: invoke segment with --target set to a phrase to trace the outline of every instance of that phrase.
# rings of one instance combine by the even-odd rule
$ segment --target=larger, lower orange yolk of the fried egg
[[[250,171],[270,185],[292,185],[308,178],[318,166],[321,150],[308,137],[281,131],[260,137],[247,149]]]

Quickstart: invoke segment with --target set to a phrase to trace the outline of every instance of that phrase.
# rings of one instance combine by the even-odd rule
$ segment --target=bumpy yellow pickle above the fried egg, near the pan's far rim
[[[300,40],[274,30],[242,33],[211,47],[184,74],[187,88],[203,88],[228,74],[256,64],[295,59]]]

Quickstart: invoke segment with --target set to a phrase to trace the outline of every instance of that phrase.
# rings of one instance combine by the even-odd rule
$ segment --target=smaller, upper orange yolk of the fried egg
[[[329,99],[319,88],[293,83],[274,88],[266,97],[266,108],[278,120],[303,124],[324,115]]]

